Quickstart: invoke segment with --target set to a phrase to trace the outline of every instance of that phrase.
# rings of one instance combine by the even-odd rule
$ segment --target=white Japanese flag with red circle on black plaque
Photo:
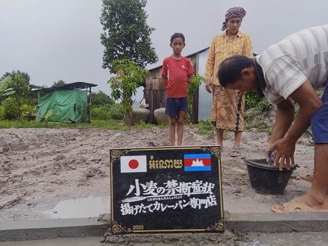
[[[121,156],[121,173],[147,172],[146,156]]]

